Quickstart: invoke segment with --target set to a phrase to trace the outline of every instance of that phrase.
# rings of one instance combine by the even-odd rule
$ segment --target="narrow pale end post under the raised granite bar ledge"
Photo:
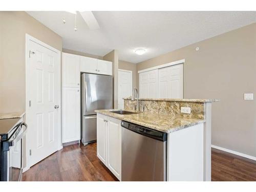
[[[205,103],[204,181],[211,181],[211,103]]]

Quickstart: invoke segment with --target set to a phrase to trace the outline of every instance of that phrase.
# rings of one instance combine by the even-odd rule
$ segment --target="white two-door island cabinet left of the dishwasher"
[[[121,120],[97,114],[97,157],[121,180]]]

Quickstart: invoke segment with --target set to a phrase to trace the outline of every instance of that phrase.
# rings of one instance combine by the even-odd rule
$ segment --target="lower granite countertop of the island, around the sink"
[[[205,122],[202,119],[187,119],[175,115],[162,115],[150,112],[140,112],[138,114],[131,115],[120,115],[111,113],[111,111],[118,111],[117,109],[112,110],[95,110],[96,113],[110,116],[116,119],[124,120],[134,124],[148,127],[153,130],[157,130],[164,133],[172,133],[185,129],[186,127],[193,126]],[[132,110],[125,110],[132,111]],[[135,112],[135,111],[132,111]]]

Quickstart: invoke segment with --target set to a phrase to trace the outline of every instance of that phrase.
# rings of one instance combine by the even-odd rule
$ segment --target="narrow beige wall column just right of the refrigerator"
[[[108,60],[113,62],[113,89],[114,89],[114,94],[113,94],[113,104],[114,108],[117,109],[118,107],[118,52],[117,50],[113,50],[103,56],[104,60]]]

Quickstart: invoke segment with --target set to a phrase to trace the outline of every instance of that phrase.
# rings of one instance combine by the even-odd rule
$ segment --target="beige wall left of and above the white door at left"
[[[25,34],[62,50],[62,38],[24,11],[0,11],[0,113],[25,111]]]

